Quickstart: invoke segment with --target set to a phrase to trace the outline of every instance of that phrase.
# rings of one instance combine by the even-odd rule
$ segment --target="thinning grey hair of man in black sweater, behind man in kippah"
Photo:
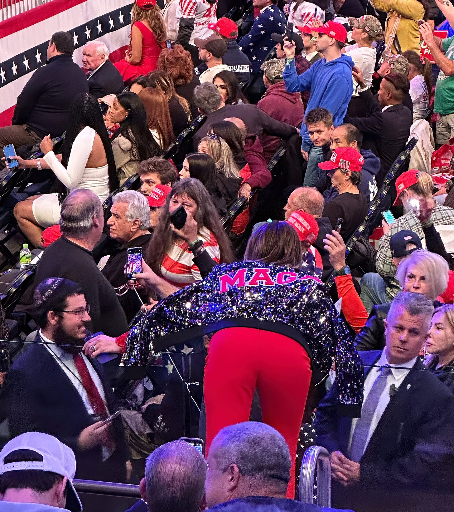
[[[99,197],[85,188],[73,190],[61,204],[60,230],[64,236],[84,238],[93,228],[94,217],[103,217]]]

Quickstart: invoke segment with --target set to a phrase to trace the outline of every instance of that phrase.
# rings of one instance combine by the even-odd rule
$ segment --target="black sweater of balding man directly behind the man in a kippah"
[[[44,250],[34,286],[48,278],[66,278],[80,284],[90,305],[93,332],[117,337],[127,331],[123,308],[112,286],[96,266],[92,252],[61,236]]]

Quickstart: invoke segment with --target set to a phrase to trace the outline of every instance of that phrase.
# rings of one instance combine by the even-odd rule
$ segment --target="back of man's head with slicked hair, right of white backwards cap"
[[[156,448],[145,465],[150,512],[197,512],[205,493],[207,463],[186,441]]]

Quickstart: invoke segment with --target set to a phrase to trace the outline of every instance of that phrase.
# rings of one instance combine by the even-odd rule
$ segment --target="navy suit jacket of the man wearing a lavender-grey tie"
[[[381,351],[359,355],[367,375],[367,365],[374,365]],[[335,388],[334,382],[317,408],[317,444],[348,456],[352,419],[338,415]],[[417,360],[372,434],[358,484],[343,490],[334,486],[335,505],[355,512],[440,510],[433,500],[453,491],[453,429],[454,397]]]

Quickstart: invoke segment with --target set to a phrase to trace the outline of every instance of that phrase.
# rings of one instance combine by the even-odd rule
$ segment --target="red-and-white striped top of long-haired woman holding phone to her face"
[[[210,254],[216,263],[219,263],[220,251],[214,234],[207,228],[199,230],[199,238],[203,240],[203,247]],[[202,279],[197,265],[193,262],[193,254],[186,242],[177,245],[173,244],[161,266],[163,278],[177,288],[184,288],[187,285]]]

